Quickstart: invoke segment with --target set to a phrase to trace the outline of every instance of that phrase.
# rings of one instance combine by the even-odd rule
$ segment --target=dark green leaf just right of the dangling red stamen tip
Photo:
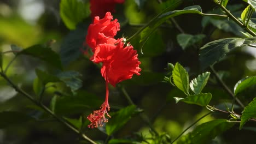
[[[131,119],[131,116],[135,113],[135,105],[129,105],[118,112],[115,112],[114,115],[111,115],[111,119],[109,119],[108,123],[106,123],[106,133],[108,135],[112,135],[118,131]]]

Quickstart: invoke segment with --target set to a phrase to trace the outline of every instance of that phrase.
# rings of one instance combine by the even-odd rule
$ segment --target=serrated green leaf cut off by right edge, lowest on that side
[[[249,103],[248,106],[245,107],[245,109],[242,112],[241,116],[241,123],[239,129],[241,130],[243,125],[250,119],[256,117],[256,98]]]

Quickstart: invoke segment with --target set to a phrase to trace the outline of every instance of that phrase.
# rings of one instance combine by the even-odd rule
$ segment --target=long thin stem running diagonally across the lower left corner
[[[21,88],[19,88],[18,86],[16,86],[14,84],[13,81],[11,81],[7,75],[5,75],[4,73],[0,73],[0,75],[10,84],[11,87],[13,87],[15,89],[16,92],[19,92],[21,95],[24,95],[27,99],[30,99],[34,104],[38,105],[39,107],[41,107],[46,113],[48,113],[49,115],[53,116],[57,121],[59,121],[60,123],[62,123],[63,125],[65,125],[67,128],[73,130],[75,133],[80,134],[79,130],[75,129],[71,124],[69,124],[68,122],[65,121],[65,119],[56,116],[50,109],[48,109],[48,107],[46,107],[44,104],[38,102],[37,100],[35,100],[30,94],[26,93],[25,91],[23,91]],[[94,142],[93,140],[91,140],[88,136],[82,134],[81,135],[85,140],[88,140],[89,142],[96,144],[96,142]]]

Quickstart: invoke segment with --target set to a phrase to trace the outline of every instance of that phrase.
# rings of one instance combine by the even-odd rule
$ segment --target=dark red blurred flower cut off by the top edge
[[[124,0],[90,0],[91,17],[104,17],[107,12],[115,12],[115,4],[124,3]]]

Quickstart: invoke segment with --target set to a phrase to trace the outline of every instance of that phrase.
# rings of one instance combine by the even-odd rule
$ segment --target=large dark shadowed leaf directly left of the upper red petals
[[[88,23],[81,23],[77,26],[77,29],[69,32],[63,39],[60,47],[60,56],[63,65],[68,65],[82,55],[83,43],[88,26]]]

